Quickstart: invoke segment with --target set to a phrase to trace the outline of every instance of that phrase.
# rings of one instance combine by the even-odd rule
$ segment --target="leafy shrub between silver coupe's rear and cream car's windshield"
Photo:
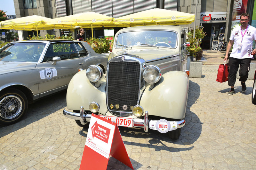
[[[92,47],[96,53],[108,53],[111,51],[111,45],[113,46],[113,40],[108,40],[105,38],[87,38],[86,42]]]

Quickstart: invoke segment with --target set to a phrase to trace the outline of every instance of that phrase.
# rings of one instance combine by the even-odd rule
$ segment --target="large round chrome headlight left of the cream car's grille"
[[[86,69],[86,77],[89,81],[97,82],[101,79],[103,75],[103,70],[97,65],[91,65]]]

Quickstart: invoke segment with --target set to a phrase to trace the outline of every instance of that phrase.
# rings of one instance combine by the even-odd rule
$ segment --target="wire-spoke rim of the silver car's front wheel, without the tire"
[[[17,96],[6,96],[0,101],[0,116],[5,119],[17,117],[22,109],[22,102]]]

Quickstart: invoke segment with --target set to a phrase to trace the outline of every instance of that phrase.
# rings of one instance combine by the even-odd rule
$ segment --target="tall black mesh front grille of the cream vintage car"
[[[139,90],[139,62],[113,61],[109,63],[107,101],[110,112],[117,116],[122,116],[121,112],[130,112],[129,115],[132,115],[132,107],[138,103]]]

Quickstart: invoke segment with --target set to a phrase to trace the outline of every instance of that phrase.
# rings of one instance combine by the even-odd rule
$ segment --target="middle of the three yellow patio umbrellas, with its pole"
[[[66,17],[54,18],[46,25],[63,25],[65,28],[92,28],[92,27],[112,27],[119,26],[113,24],[113,18],[96,12],[84,12],[80,14],[68,15]],[[93,32],[92,32],[93,37]]]

